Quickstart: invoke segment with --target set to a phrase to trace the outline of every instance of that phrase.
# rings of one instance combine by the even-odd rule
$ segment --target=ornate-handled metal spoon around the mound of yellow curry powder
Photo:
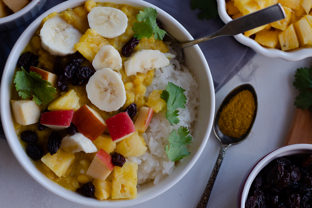
[[[250,127],[247,129],[247,132],[244,135],[242,135],[239,138],[229,137],[227,135],[224,135],[218,126],[220,113],[221,113],[223,107],[229,102],[229,100],[232,97],[234,97],[237,93],[239,93],[243,90],[249,90],[251,92],[252,96],[254,97],[255,105],[256,105],[255,112],[254,112]],[[217,111],[216,118],[213,121],[213,132],[216,135],[217,139],[220,141],[221,148],[220,148],[219,156],[217,158],[217,162],[216,162],[216,164],[212,170],[212,173],[211,173],[211,176],[210,176],[209,181],[207,183],[207,186],[205,188],[205,191],[203,192],[202,197],[201,197],[200,201],[198,202],[197,208],[205,208],[207,206],[208,199],[209,199],[213,184],[216,180],[217,174],[219,172],[219,169],[220,169],[222,160],[224,158],[225,152],[227,151],[227,148],[230,147],[231,145],[241,143],[242,141],[244,141],[247,138],[248,134],[251,131],[252,125],[255,122],[256,115],[257,115],[257,109],[258,109],[257,94],[256,94],[255,89],[249,84],[244,84],[244,85],[240,85],[240,86],[236,87],[229,94],[227,94],[227,96],[222,101],[222,103],[221,103],[221,105]]]

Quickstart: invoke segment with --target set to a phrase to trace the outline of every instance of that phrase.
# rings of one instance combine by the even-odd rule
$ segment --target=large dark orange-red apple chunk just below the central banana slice
[[[107,128],[101,115],[87,105],[76,110],[72,123],[78,131],[92,142],[98,138]]]

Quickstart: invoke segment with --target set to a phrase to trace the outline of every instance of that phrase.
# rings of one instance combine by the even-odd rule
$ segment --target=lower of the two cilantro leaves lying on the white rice
[[[178,129],[178,135],[175,130],[169,135],[168,141],[170,148],[167,144],[165,151],[169,160],[172,162],[181,160],[183,157],[188,156],[191,153],[188,152],[188,148],[185,147],[192,141],[192,136],[188,136],[189,133],[188,128],[181,126]]]

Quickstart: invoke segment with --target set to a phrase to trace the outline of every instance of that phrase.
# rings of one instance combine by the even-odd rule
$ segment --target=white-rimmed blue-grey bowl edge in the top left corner
[[[46,0],[32,0],[20,11],[0,18],[0,31],[6,31],[21,26],[34,17],[46,3]]]

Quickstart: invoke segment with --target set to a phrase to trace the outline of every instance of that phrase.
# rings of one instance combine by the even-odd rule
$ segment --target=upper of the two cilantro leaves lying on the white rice
[[[185,109],[186,96],[184,95],[185,89],[178,87],[172,82],[168,82],[166,90],[160,95],[160,98],[166,101],[167,112],[165,118],[170,122],[171,125],[179,123],[177,116],[179,111],[177,108]]]

